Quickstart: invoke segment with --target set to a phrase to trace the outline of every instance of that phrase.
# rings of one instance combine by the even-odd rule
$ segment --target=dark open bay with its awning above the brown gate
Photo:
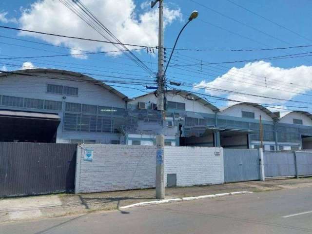
[[[0,110],[0,141],[56,142],[58,114]]]

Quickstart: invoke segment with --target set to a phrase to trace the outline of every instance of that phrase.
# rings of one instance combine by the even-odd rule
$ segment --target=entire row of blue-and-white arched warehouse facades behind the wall
[[[256,103],[219,110],[192,93],[166,93],[162,121],[156,96],[129,99],[85,75],[55,69],[0,74],[0,141],[258,148],[262,117],[265,150],[312,148],[312,115],[280,117]]]

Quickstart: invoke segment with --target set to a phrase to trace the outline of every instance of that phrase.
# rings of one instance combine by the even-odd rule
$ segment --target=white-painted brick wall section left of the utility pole
[[[94,150],[93,160],[84,160],[85,149]],[[78,146],[76,193],[155,187],[156,147],[141,145]]]

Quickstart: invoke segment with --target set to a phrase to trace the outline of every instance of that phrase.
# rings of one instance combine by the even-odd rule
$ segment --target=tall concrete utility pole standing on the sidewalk
[[[159,26],[158,26],[158,73],[157,73],[157,110],[161,112],[161,120],[164,123],[164,20],[163,20],[163,0],[152,1],[151,7],[159,1]],[[165,198],[164,185],[164,145],[165,136],[159,134],[156,136],[156,198]]]

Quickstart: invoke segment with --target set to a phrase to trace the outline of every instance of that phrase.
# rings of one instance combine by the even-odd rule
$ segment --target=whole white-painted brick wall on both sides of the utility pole
[[[166,146],[164,155],[165,185],[167,174],[176,174],[177,186],[224,183],[222,148]],[[155,176],[155,146],[78,145],[76,193],[153,188]]]

